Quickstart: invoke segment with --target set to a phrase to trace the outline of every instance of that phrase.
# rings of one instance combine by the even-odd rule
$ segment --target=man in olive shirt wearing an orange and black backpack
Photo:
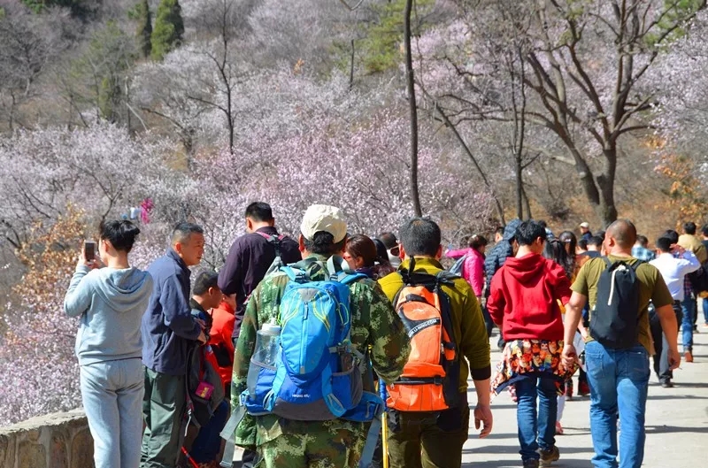
[[[428,289],[419,287],[419,294],[426,295],[428,300],[423,300],[421,306],[420,295],[415,294],[415,287],[404,289],[404,276],[407,284],[415,285],[415,278],[427,279],[432,275],[443,274],[443,265],[439,259],[443,254],[441,245],[440,227],[429,219],[413,218],[404,223],[399,230],[401,235],[401,254],[404,262],[399,272],[393,272],[379,280],[381,288],[391,301],[397,299],[397,312],[406,317],[406,328],[412,336],[412,358],[406,364],[401,380],[389,385],[389,455],[391,466],[406,468],[459,468],[462,464],[462,446],[467,440],[469,432],[470,411],[467,403],[467,376],[472,375],[474,388],[477,392],[477,405],[474,409],[474,423],[478,429],[482,426],[480,437],[486,437],[492,430],[492,413],[489,409],[489,377],[491,368],[489,363],[489,338],[484,325],[480,304],[470,285],[462,278],[443,282],[439,288],[442,291],[437,295]],[[403,292],[401,292],[403,291]],[[409,292],[410,291],[410,292]],[[435,296],[437,299],[435,299]],[[432,326],[416,326],[421,323],[412,323],[410,314],[418,313],[433,303],[438,303],[439,315],[427,318],[425,323],[439,324],[442,328],[450,323],[451,336],[447,331],[441,334],[443,341],[447,336],[453,343],[441,342],[441,334],[431,334],[426,342],[426,329],[434,330]],[[407,309],[407,307],[412,309]],[[427,309],[430,311],[429,309]],[[434,313],[436,313],[434,311]],[[422,318],[421,318],[422,320]],[[437,342],[435,342],[435,340]],[[427,344],[426,344],[427,343]],[[443,379],[440,374],[420,374],[416,370],[422,366],[423,356],[427,353],[424,349],[432,349],[428,353],[435,364],[443,359],[449,351],[443,353],[440,349],[455,349],[458,353],[454,363],[448,368],[448,379]],[[444,359],[447,360],[448,356]],[[458,373],[456,373],[458,372]],[[440,377],[435,382],[435,375]],[[427,385],[406,385],[406,381],[419,380],[431,381]],[[437,402],[432,395],[439,395],[445,386],[451,385],[450,392],[456,402],[452,403],[447,398],[444,403]],[[427,388],[424,388],[427,387]],[[420,392],[418,390],[420,388]],[[425,393],[421,398],[415,399],[411,395],[416,392]],[[457,394],[457,395],[456,395]],[[447,396],[447,395],[446,395]],[[436,410],[435,404],[446,409]],[[448,404],[452,403],[452,404]],[[405,410],[404,410],[405,407]]]

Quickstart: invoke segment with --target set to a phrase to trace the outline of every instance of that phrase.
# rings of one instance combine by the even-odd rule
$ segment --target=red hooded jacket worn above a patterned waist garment
[[[562,266],[538,254],[509,257],[492,278],[487,309],[505,341],[563,340],[558,301],[570,295]]]

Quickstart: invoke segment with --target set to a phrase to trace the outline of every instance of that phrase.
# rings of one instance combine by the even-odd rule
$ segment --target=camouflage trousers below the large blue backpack
[[[356,468],[364,449],[360,433],[346,429],[282,434],[258,447],[257,468]]]

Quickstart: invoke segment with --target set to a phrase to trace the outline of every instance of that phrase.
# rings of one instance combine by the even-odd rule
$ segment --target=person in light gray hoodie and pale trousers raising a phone
[[[81,318],[76,356],[96,468],[140,464],[144,393],[140,321],[152,278],[128,263],[139,233],[130,221],[102,224],[100,258],[87,258],[86,249],[81,249],[64,298],[66,315]]]

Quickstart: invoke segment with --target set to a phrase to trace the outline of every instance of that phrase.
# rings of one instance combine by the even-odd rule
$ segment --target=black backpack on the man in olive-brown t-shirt
[[[634,265],[602,257],[607,265],[597,282],[595,310],[590,316],[590,336],[607,348],[626,349],[639,342],[639,279]]]

